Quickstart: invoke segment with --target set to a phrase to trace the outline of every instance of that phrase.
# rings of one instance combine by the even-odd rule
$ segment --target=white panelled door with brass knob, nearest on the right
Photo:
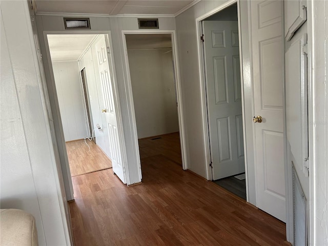
[[[282,1],[251,1],[251,16],[256,206],[285,221]]]

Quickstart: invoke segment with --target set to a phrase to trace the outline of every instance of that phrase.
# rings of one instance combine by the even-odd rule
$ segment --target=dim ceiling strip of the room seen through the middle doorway
[[[128,50],[171,49],[171,34],[126,34]]]

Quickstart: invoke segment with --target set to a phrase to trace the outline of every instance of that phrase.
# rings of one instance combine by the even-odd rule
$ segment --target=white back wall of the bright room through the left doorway
[[[90,136],[77,61],[52,63],[65,141]]]

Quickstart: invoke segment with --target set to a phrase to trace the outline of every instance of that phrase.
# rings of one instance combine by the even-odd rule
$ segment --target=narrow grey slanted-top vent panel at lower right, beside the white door
[[[293,168],[293,216],[294,216],[294,245],[308,245],[308,213],[307,202],[301,184]]]

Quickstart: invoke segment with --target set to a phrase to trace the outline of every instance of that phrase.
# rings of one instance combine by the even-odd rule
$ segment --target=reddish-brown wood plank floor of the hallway
[[[123,185],[112,169],[72,178],[75,245],[284,244],[283,222],[150,147],[140,185]]]

